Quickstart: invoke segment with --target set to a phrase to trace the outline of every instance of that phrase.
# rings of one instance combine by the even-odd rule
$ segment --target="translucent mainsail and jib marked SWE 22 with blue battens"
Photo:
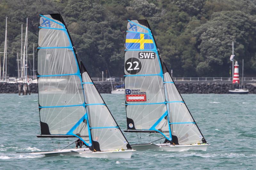
[[[206,143],[146,19],[128,20],[124,82],[128,132],[159,132],[174,144]]]

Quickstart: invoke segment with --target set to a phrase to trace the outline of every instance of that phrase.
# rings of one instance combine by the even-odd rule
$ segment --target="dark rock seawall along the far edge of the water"
[[[0,93],[19,93],[19,83],[0,83]],[[100,93],[111,93],[111,84],[95,84]],[[121,85],[121,84],[114,84]],[[200,93],[200,94],[226,94],[228,90],[234,90],[239,86],[237,84],[229,83],[178,83],[176,84],[178,90],[182,94],[186,93]],[[29,85],[31,93],[37,93],[37,84],[32,83]],[[251,84],[245,84],[245,88],[249,90],[249,93],[256,94],[256,86]],[[21,84],[21,93],[23,85]]]

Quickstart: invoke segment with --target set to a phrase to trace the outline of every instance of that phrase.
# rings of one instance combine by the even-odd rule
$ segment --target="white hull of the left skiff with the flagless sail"
[[[63,150],[54,150],[46,152],[32,152],[31,155],[46,155],[46,156],[56,156],[56,155],[73,155],[83,158],[124,158],[129,159],[132,156],[132,152],[135,150],[117,150],[117,151],[101,151],[101,152],[92,152],[89,148],[81,149],[63,149]]]

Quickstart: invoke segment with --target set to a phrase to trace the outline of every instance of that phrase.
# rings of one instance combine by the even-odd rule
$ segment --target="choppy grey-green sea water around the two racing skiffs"
[[[75,138],[37,138],[40,134],[37,94],[0,94],[0,169],[256,169],[255,94],[182,96],[211,144],[207,151],[148,150],[134,152],[131,159],[96,159],[16,153],[62,149]],[[124,95],[102,94],[102,97],[121,129],[125,130]],[[161,138],[145,133],[124,134],[130,144]]]

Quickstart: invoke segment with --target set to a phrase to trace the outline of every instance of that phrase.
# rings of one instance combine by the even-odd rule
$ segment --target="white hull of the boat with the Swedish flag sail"
[[[171,144],[135,144],[132,145],[133,149],[138,151],[142,150],[158,150],[158,151],[172,151],[182,152],[188,150],[206,151],[207,146],[210,144],[183,144],[183,145],[171,145]]]

